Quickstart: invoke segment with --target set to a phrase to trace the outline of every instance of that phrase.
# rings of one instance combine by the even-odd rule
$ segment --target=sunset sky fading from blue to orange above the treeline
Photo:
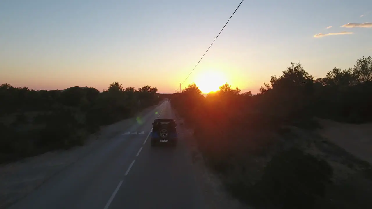
[[[0,84],[172,93],[240,1],[1,0]],[[371,0],[245,0],[182,88],[256,93],[291,62],[318,78],[370,55]]]

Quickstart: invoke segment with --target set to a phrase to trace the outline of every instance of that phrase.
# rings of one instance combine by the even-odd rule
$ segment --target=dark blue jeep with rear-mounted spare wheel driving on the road
[[[176,122],[173,119],[155,119],[153,130],[150,133],[151,147],[157,144],[177,145],[178,133],[176,131]]]

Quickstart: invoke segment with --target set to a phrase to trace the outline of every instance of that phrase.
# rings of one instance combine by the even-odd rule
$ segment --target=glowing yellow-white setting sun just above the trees
[[[202,93],[219,90],[219,87],[226,83],[226,78],[221,72],[204,71],[199,74],[195,80],[195,84],[199,87]]]

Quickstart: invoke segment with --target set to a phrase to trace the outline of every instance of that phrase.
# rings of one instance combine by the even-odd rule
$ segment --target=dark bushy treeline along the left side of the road
[[[78,86],[36,91],[3,84],[0,162],[81,145],[101,125],[129,118],[162,99],[155,87],[124,89],[118,82],[103,92]]]

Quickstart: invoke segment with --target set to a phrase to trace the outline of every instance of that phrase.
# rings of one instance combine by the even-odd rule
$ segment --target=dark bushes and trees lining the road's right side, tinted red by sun
[[[332,208],[325,198],[332,167],[296,147],[283,127],[316,128],[314,116],[372,122],[372,60],[362,57],[353,68],[333,68],[315,80],[292,63],[255,96],[225,84],[204,97],[190,84],[170,98],[194,129],[207,165],[236,197],[257,208]]]

